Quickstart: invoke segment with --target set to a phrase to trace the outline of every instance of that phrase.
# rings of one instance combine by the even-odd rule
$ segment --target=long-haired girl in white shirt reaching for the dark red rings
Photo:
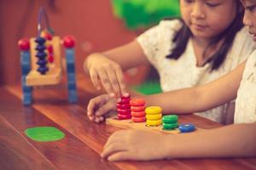
[[[238,0],[180,0],[180,9],[183,20],[164,20],[131,43],[91,54],[84,70],[96,88],[102,82],[108,94],[125,95],[122,69],[147,62],[159,72],[164,92],[195,87],[224,76],[253,52]],[[233,102],[198,115],[224,123],[228,112],[233,117]],[[102,114],[88,111],[96,122]]]

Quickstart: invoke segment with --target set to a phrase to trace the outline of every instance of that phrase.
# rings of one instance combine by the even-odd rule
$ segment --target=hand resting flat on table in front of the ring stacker
[[[169,135],[142,130],[123,130],[113,133],[104,146],[102,157],[108,161],[149,161],[167,157]]]

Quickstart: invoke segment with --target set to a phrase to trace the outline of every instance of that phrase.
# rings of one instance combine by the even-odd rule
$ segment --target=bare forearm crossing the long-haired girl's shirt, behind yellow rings
[[[206,111],[218,105],[236,99],[243,62],[235,70],[214,82],[195,88],[185,88],[164,94],[145,96],[147,105],[160,105],[164,113],[191,113]]]

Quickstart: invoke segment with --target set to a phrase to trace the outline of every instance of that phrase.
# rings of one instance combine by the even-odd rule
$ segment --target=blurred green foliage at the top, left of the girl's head
[[[113,13],[132,29],[147,28],[166,17],[179,17],[179,0],[112,0]]]

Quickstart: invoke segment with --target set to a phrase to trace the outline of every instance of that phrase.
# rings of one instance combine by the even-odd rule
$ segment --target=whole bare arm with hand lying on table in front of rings
[[[143,139],[143,140],[142,140]],[[195,133],[163,134],[126,130],[113,133],[102,157],[109,161],[256,156],[256,122]]]

